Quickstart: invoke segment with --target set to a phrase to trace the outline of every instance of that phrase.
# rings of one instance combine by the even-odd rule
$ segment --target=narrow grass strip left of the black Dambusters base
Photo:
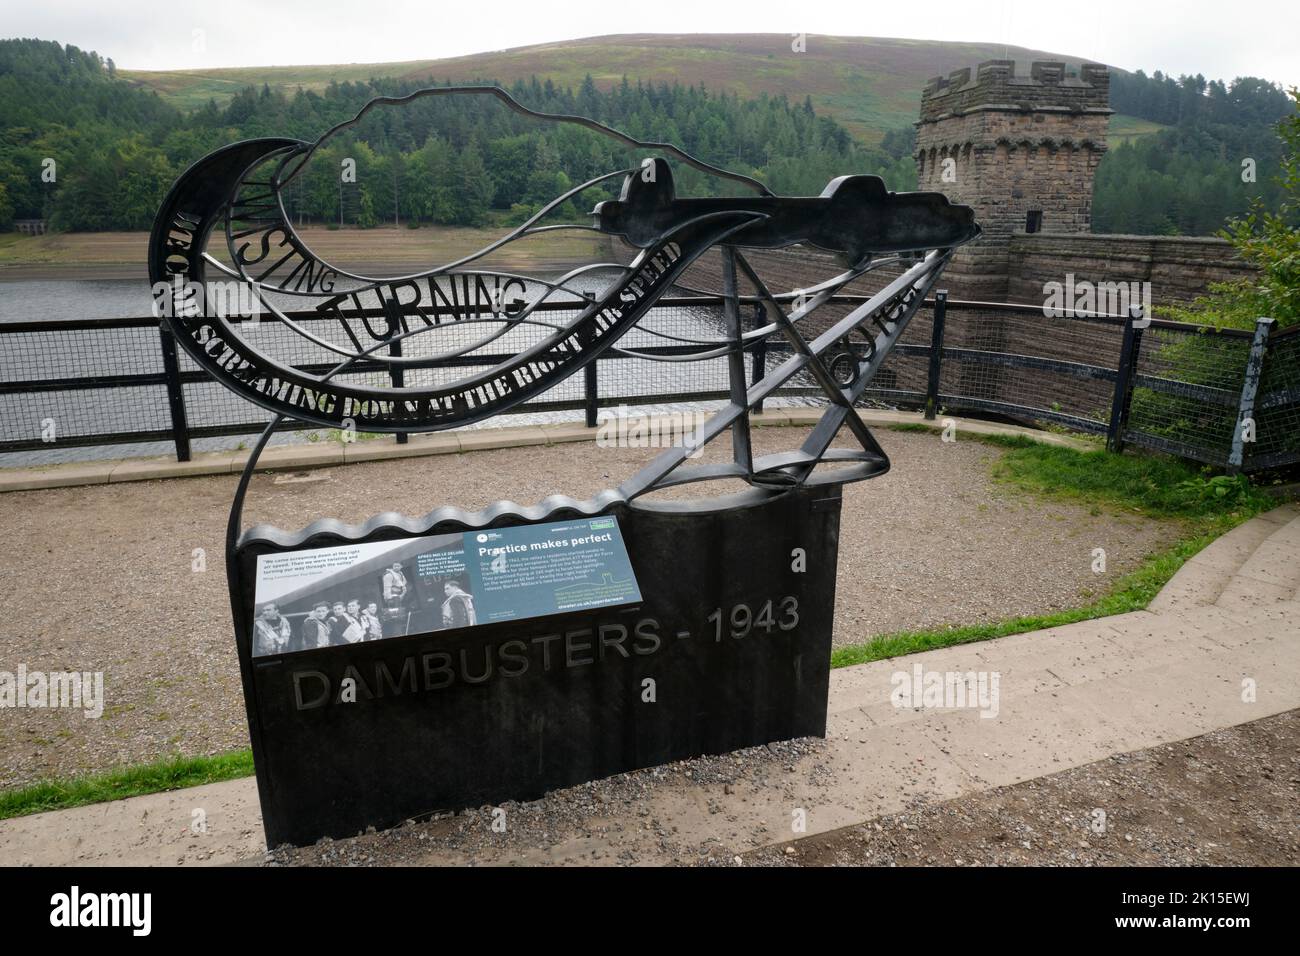
[[[220,753],[214,757],[174,757],[69,780],[43,780],[30,787],[0,792],[0,819],[47,810],[66,810],[72,806],[101,804],[108,800],[124,800],[250,775],[252,775],[252,750],[248,749]]]

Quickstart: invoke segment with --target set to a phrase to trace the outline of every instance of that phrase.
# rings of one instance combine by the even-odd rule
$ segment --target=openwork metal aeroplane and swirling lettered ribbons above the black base
[[[482,250],[412,276],[363,276],[313,252],[286,212],[285,193],[320,146],[380,104],[402,105],[425,96],[455,95],[493,96],[524,116],[577,124],[625,146],[663,153],[710,176],[740,183],[754,195],[679,198],[672,170],[659,155],[646,157],[638,166],[590,179],[558,196]],[[619,177],[623,178],[621,195],[598,204],[590,225],[538,225],[563,203]],[[593,263],[559,280],[472,268],[472,263],[510,242],[566,228],[621,237],[641,251],[627,267]],[[208,252],[213,234],[224,238],[229,265]],[[538,113],[497,87],[437,87],[403,98],[376,99],[356,117],[312,143],[255,139],[199,160],[178,179],[159,212],[150,239],[150,278],[160,293],[160,311],[166,324],[194,360],[226,388],[278,416],[257,442],[246,473],[251,473],[270,431],[286,418],[334,428],[348,423],[360,432],[430,432],[510,411],[607,351],[671,362],[727,358],[731,377],[727,407],[714,415],[692,442],[670,449],[620,488],[601,496],[603,505],[711,479],[741,479],[762,493],[819,481],[861,480],[888,470],[888,457],[853,406],[939,278],[953,248],[978,235],[972,211],[953,206],[937,193],[893,194],[879,177],[845,176],[832,181],[816,198],[775,196],[762,183],[697,160],[676,147],[641,142],[584,117]],[[833,252],[844,271],[797,293],[768,290],[742,250],[794,243]],[[620,347],[619,339],[705,251],[715,246],[723,251],[725,336],[711,341],[671,337],[684,347],[670,356]],[[900,261],[911,263],[910,268],[867,303],[820,334],[802,334],[803,320],[837,291],[868,271]],[[615,277],[572,320],[555,324],[543,319],[538,311],[542,302],[573,293],[575,278],[598,269],[614,269]],[[753,284],[766,308],[768,323],[762,328],[741,329],[740,276]],[[261,308],[304,342],[335,356],[338,364],[326,373],[315,375],[263,351],[252,336],[244,334],[238,316],[207,308],[202,295],[195,295],[195,290],[202,290],[213,277],[248,284]],[[476,290],[489,291],[494,303],[490,317],[467,310],[448,323],[436,308],[439,280],[460,281],[467,291],[471,284]],[[507,290],[511,285],[521,287],[525,280],[541,285],[543,294],[532,303],[507,304]],[[272,294],[316,298],[320,300],[317,312],[337,323],[342,339],[326,338],[295,323],[277,307]],[[403,354],[403,343],[445,333],[451,325],[458,329],[482,326],[484,334],[432,356]],[[426,367],[430,359],[467,355],[521,329],[540,329],[540,341],[495,367],[451,384],[380,386],[344,381],[348,369],[363,360],[394,371]],[[793,356],[746,385],[744,351],[771,337],[788,339]],[[848,354],[855,362],[833,375],[827,360],[837,355],[842,364],[846,342],[853,342]],[[829,406],[824,418],[800,449],[754,458],[749,447],[748,414],[801,373],[810,375],[826,392]],[[400,380],[400,375],[394,376],[394,381]],[[829,450],[836,433],[845,425],[861,447]],[[727,429],[732,431],[733,440],[729,464],[685,463],[701,445]],[[823,462],[842,467],[827,475],[814,473]],[[701,503],[701,507],[710,506]]]

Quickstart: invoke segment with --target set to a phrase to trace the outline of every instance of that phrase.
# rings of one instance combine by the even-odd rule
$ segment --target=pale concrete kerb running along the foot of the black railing
[[[819,407],[772,408],[759,415],[753,415],[750,421],[763,428],[812,425],[822,418],[824,411],[824,408]],[[920,412],[893,411],[889,408],[861,408],[858,414],[871,427],[923,425],[933,432],[941,432],[946,427],[946,423],[952,421],[956,424],[958,434],[965,432],[968,434],[1024,436],[1034,441],[1074,447],[1082,451],[1096,447],[1082,438],[1056,434],[1053,432],[1040,432],[1020,425],[1002,425],[953,416],[945,416],[937,421],[927,421]],[[667,416],[650,418],[654,420],[667,419]],[[488,449],[594,441],[598,431],[599,428],[588,428],[584,424],[573,421],[415,434],[406,444],[398,444],[394,438],[376,438],[347,444],[328,441],[307,445],[277,445],[263,453],[261,460],[257,462],[257,470],[294,471],[299,468],[354,464],[358,462],[381,462],[393,458],[441,455],[454,451],[481,451]],[[164,455],[160,458],[49,464],[35,468],[0,468],[0,493],[70,488],[77,485],[103,485],[121,481],[194,477],[199,475],[229,475],[239,472],[244,467],[248,454],[247,450],[242,449],[239,451],[200,453],[194,455],[188,462],[177,462]]]

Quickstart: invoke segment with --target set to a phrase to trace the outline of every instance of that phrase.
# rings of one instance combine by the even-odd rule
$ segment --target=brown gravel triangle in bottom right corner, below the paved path
[[[1296,866],[1297,801],[1292,710],[797,844],[712,856],[750,866]]]

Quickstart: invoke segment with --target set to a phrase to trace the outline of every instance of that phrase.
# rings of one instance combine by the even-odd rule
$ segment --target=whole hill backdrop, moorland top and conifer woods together
[[[767,34],[602,36],[451,60],[126,73],[72,46],[0,39],[0,230],[14,219],[47,219],[68,232],[147,228],[177,173],[218,146],[259,135],[311,139],[376,95],[447,81],[497,81],[543,112],[593,116],[677,143],[788,195],[819,190],[845,169],[915,189],[911,126],[926,81],[1002,57],[1022,70],[1037,59],[1078,66],[988,43],[812,35],[794,52],[789,35]],[[1096,232],[1205,235],[1252,199],[1277,208],[1275,124],[1294,107],[1275,83],[1113,70],[1110,103],[1113,148],[1097,172]],[[304,176],[292,200],[299,217],[516,222],[542,198],[615,161],[569,138],[551,143],[502,125],[465,101],[412,107],[396,125],[368,118],[354,140],[368,181],[344,195],[325,173],[318,182]],[[51,156],[65,160],[57,182],[47,183],[34,170]],[[1257,181],[1243,182],[1240,157],[1256,160]],[[493,174],[482,173],[485,164]],[[411,187],[399,185],[407,181]]]

